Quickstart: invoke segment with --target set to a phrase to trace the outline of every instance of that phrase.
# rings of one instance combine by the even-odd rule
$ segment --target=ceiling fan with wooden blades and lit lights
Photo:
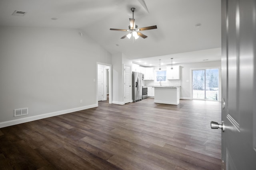
[[[125,37],[128,37],[130,39],[131,36],[133,36],[135,39],[138,39],[138,37],[146,38],[148,36],[144,35],[143,33],[140,33],[139,31],[144,31],[144,30],[148,30],[148,29],[157,29],[156,25],[138,28],[138,25],[135,25],[134,10],[135,10],[135,8],[131,8],[132,18],[129,18],[129,20],[130,20],[130,25],[128,27],[129,29],[110,28],[110,30],[115,30],[115,31],[129,31],[129,33],[127,33],[126,35],[121,37],[121,39],[124,39]]]

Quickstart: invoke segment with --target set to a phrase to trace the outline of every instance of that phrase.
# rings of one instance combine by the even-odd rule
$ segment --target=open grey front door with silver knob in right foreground
[[[256,168],[255,0],[222,0],[222,169]]]

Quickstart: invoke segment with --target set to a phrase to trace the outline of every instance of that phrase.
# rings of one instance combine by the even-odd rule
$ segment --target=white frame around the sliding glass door
[[[205,100],[205,99],[194,99],[193,98],[193,70],[206,70],[206,69],[214,69],[218,68],[219,69],[219,100],[207,100],[207,101],[216,101],[216,102],[221,102],[221,67],[216,66],[216,67],[202,67],[202,68],[190,68],[190,99],[191,100]]]

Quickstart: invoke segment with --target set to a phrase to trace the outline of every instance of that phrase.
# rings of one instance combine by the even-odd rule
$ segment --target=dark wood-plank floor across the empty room
[[[220,102],[148,98],[0,129],[0,169],[220,170]]]

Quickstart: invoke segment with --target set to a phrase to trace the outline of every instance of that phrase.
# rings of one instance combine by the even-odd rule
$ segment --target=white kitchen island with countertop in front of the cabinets
[[[155,103],[180,104],[180,87],[153,86],[155,88]]]

